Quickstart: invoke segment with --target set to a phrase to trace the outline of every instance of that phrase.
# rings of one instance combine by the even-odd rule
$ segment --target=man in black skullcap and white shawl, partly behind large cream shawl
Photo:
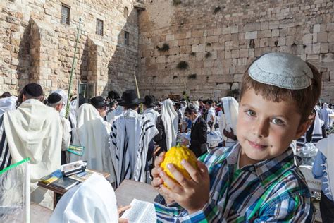
[[[47,106],[53,107],[58,112],[61,112],[64,103],[65,102],[63,97],[61,97],[61,95],[58,93],[52,93],[47,98]],[[70,128],[70,121],[61,115],[59,116],[61,117],[61,126],[63,126],[63,140],[61,141],[61,164],[66,164],[66,150],[68,149],[68,145],[70,145],[70,134],[72,130]]]

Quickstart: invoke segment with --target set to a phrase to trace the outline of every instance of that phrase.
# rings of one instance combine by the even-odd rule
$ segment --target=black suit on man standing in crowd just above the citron
[[[190,133],[190,150],[194,152],[196,157],[200,157],[205,151],[201,150],[201,146],[206,143],[207,136],[206,121],[199,116],[198,119],[192,123],[192,131]]]

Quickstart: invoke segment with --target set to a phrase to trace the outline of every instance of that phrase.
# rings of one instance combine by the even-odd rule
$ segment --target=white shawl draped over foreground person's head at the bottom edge
[[[49,223],[118,222],[116,196],[103,176],[93,174],[61,197]]]

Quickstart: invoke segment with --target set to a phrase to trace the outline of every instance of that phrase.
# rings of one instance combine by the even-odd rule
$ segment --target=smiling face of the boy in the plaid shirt
[[[247,90],[240,101],[237,139],[247,164],[281,155],[307,130],[292,102],[272,102]]]

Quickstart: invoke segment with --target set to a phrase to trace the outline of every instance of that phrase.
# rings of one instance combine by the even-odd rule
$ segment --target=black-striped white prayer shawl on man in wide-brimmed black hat
[[[145,116],[138,115],[135,111],[128,112],[130,116],[120,116],[113,122],[110,133],[110,152],[116,171],[116,188],[124,179],[132,179],[145,183],[145,164],[148,145],[154,135],[158,133],[154,124]],[[135,119],[135,123],[131,129],[128,129],[125,123],[129,119]],[[128,131],[135,131],[135,138],[130,138]],[[135,148],[130,147],[130,140],[135,142]],[[132,163],[133,159],[131,159],[130,155],[130,152],[133,151],[137,153],[131,154],[132,156],[136,156],[135,164]]]

